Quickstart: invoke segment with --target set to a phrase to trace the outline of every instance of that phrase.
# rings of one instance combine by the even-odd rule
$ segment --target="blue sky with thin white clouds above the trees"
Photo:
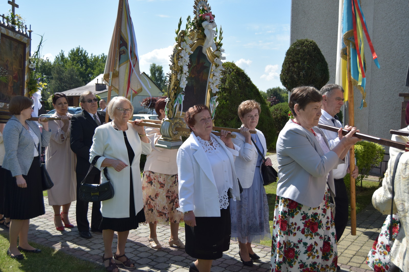
[[[32,46],[44,34],[42,55],[54,60],[61,51],[81,46],[88,53],[108,53],[117,16],[117,0],[15,0],[16,13],[31,24]],[[137,38],[139,67],[149,74],[153,62],[169,72],[175,29],[193,15],[193,0],[128,0]],[[261,90],[282,86],[279,74],[290,46],[287,0],[208,0],[218,28],[223,29],[227,61],[233,61]],[[0,12],[11,8],[0,0]]]

